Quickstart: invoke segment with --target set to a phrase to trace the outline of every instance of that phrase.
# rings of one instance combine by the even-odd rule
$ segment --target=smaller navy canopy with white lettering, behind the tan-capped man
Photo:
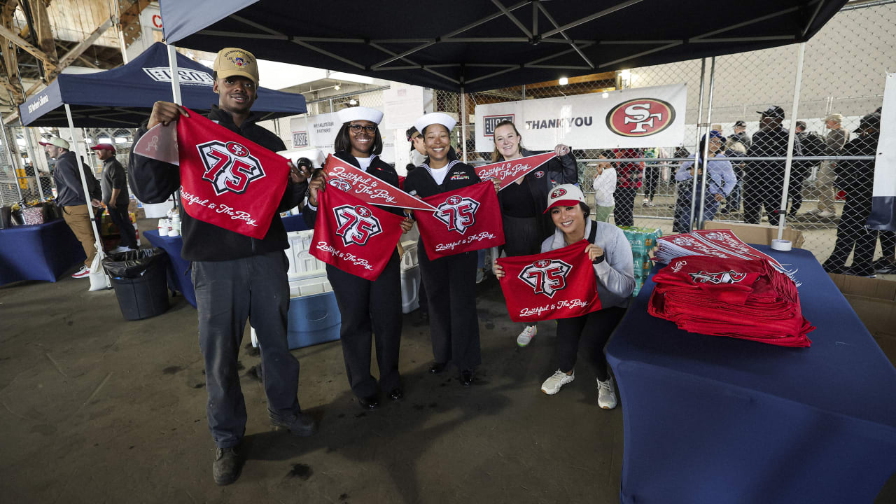
[[[205,111],[218,103],[211,91],[211,68],[177,54],[177,72],[183,104]],[[137,127],[150,116],[152,104],[171,101],[168,50],[156,43],[130,63],[96,74],[60,74],[56,81],[19,106],[23,126],[69,126],[65,104],[72,109],[74,126]],[[301,94],[259,88],[253,112],[264,119],[305,113]]]

